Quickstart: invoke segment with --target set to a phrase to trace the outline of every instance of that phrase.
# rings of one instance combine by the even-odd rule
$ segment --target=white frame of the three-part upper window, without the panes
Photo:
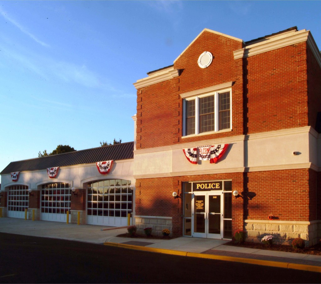
[[[219,130],[219,93],[230,92],[230,128],[228,129],[221,129]],[[199,99],[204,98],[207,96],[214,95],[214,131],[207,131],[199,133]],[[195,100],[195,133],[193,134],[186,134],[186,102]],[[183,99],[183,131],[182,131],[182,138],[186,137],[193,137],[196,135],[208,135],[216,132],[226,132],[232,129],[232,89],[223,89],[215,92],[209,92],[200,94],[193,97],[187,97]]]

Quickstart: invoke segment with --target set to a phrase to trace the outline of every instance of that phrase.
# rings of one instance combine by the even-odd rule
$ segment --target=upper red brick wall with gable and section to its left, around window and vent
[[[231,132],[204,135],[202,139],[221,138],[243,133],[243,77],[242,59],[234,59],[233,51],[242,42],[211,32],[204,32],[175,62],[180,75],[171,80],[137,90],[137,150],[179,143],[194,142],[199,138],[182,140],[182,102],[179,94],[235,82],[232,87]],[[207,68],[197,64],[204,51],[213,54]]]

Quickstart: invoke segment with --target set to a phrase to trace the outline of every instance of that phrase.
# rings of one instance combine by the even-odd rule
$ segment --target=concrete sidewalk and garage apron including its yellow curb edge
[[[108,228],[110,230],[104,230]],[[126,228],[111,228],[49,221],[29,221],[18,218],[0,218],[0,232],[2,233],[58,238],[156,253],[321,272],[320,255],[243,248],[225,245],[229,242],[226,240],[203,238],[130,239],[117,237],[117,235],[126,233]]]

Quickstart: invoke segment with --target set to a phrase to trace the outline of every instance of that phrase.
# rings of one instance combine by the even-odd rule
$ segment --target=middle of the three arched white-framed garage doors
[[[65,182],[47,183],[41,187],[40,220],[67,222],[70,211],[70,184]],[[69,222],[70,222],[69,215]]]

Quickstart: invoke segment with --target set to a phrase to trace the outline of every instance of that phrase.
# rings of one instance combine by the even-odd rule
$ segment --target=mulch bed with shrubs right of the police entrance
[[[251,242],[236,244],[234,241],[230,241],[229,243],[226,243],[226,245],[240,246],[240,247],[247,247],[247,248],[254,248],[254,249],[261,249],[261,250],[288,252],[288,253],[306,253],[306,254],[321,255],[321,244],[316,244],[314,246],[307,247],[304,249],[295,249],[291,245],[272,244],[269,246],[261,243],[251,243]]]

